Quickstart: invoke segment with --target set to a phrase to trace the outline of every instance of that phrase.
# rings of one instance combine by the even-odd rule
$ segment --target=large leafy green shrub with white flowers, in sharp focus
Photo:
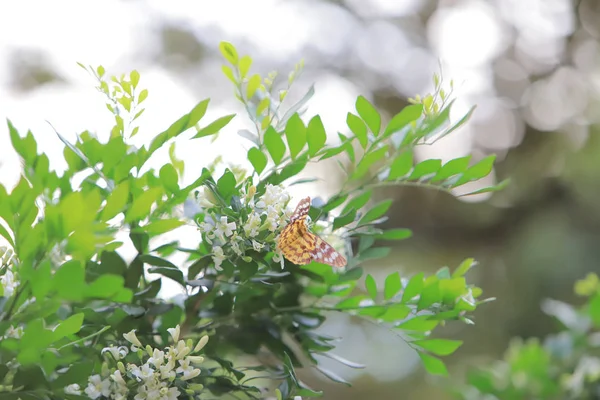
[[[295,368],[314,366],[345,382],[314,356],[360,367],[332,354],[334,338],[316,331],[324,311],[372,319],[408,341],[427,371],[446,373],[438,357],[461,342],[431,333],[446,321],[471,323],[471,313],[485,301],[464,278],[474,261],[427,277],[393,273],[383,287],[367,275],[367,293],[358,283],[362,262],[388,254],[382,242],[410,236],[407,229],[379,228],[392,201],[374,204],[374,188],[451,191],[490,173],[493,156],[477,163],[469,157],[413,162],[415,146],[451,133],[468,116],[451,125],[452,102],[439,110],[426,105],[427,112],[413,104],[384,126],[360,96],[356,113],[348,113],[350,133],[328,145],[320,117],[308,123],[301,118],[312,88],[283,111],[302,64],[277,91],[275,73],[250,75],[249,56],[239,57],[229,43],[220,49],[227,61],[223,72],[254,125],[239,132],[252,143],[249,172],[217,158],[183,186],[186,166],[175,157],[174,141],[171,162],[149,167],[154,153],[184,132],[195,130],[188,140],[217,135],[234,115],[205,123],[209,99],[202,100],[148,146],[136,148],[128,139],[138,132],[134,125],[148,96],[136,71],[106,79],[104,68],[81,65],[97,79],[115,126],[105,141],[83,132],[70,143],[57,132],[68,164],[62,175],[38,154],[30,132],[21,136],[8,123],[24,169],[10,193],[0,186],[0,235],[8,248],[0,270],[3,399],[261,398],[265,390],[273,392],[273,383],[278,398],[319,396],[299,381]],[[315,199],[310,217],[313,230],[344,253],[348,265],[294,265],[275,245],[293,206],[285,185],[302,184],[293,179],[309,162],[332,157],[346,179],[332,198]],[[224,171],[217,174],[219,169]],[[198,227],[197,246],[161,236],[184,225]],[[135,247],[130,261],[119,253],[123,240]],[[176,282],[181,293],[160,296],[163,279]],[[271,362],[238,362],[261,353]]]

